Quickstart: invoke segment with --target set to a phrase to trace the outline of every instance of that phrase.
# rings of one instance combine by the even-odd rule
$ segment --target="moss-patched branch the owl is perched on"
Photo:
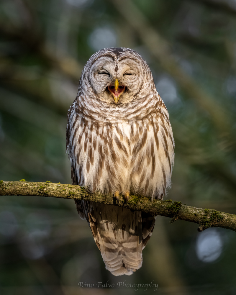
[[[140,210],[147,213],[154,213],[161,216],[171,217],[171,222],[177,219],[195,222],[199,224],[198,231],[208,227],[223,227],[236,231],[236,215],[219,212],[214,209],[201,209],[181,204],[180,201],[160,201],[144,196],[130,195],[128,202],[124,205],[123,196],[117,200],[110,195],[100,193],[89,193],[86,188],[62,183],[27,182],[21,181],[0,181],[1,196],[45,196],[63,199],[78,199],[85,201],[99,202],[114,206]]]

